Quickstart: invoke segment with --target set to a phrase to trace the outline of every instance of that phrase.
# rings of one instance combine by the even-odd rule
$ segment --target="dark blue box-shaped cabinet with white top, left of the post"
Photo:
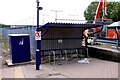
[[[12,63],[31,61],[29,34],[9,34]]]

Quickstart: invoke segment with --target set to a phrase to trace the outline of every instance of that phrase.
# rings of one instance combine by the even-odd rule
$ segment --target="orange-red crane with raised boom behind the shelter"
[[[101,12],[101,10],[102,10],[102,18],[100,18],[100,12]],[[102,19],[102,21],[103,20],[106,20],[107,18],[106,18],[106,16],[107,16],[107,0],[99,0],[99,4],[98,4],[98,6],[97,6],[97,10],[96,10],[96,15],[95,15],[95,19],[94,19],[94,23],[96,23],[96,21],[98,20],[101,20]],[[95,32],[97,32],[97,31],[99,31],[100,30],[100,28],[98,27],[98,28],[95,28]],[[98,36],[100,35],[100,33],[98,33]],[[112,29],[110,29],[110,30],[107,30],[107,38],[115,38],[115,31],[114,30],[112,30]],[[118,36],[119,36],[119,38],[120,38],[120,32],[118,31]]]

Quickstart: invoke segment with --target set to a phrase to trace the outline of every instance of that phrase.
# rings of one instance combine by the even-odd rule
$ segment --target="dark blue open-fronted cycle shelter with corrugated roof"
[[[36,56],[36,59],[53,55],[55,63],[56,55],[65,55],[67,60],[70,52],[79,54],[83,49],[84,30],[101,26],[99,24],[46,23],[40,27],[41,56]]]

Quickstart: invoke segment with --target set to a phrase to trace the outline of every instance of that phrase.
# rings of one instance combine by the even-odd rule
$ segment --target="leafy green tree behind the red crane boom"
[[[92,2],[87,9],[84,11],[85,19],[88,20],[87,23],[93,23],[95,17],[95,12],[98,6],[98,2]],[[112,19],[113,21],[120,21],[120,2],[108,2],[107,4],[107,19]],[[101,10],[102,17],[102,10]]]

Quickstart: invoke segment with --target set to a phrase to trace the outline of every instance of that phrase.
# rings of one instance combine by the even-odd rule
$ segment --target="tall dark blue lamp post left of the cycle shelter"
[[[40,32],[40,27],[39,27],[39,10],[42,10],[42,7],[39,7],[39,0],[36,0],[37,2],[37,29],[36,29],[36,33],[35,33],[35,36],[38,34],[40,35],[41,33]],[[41,37],[41,36],[39,36]],[[37,47],[36,47],[36,70],[39,70],[39,66],[41,64],[41,53],[40,53],[40,50],[41,50],[41,39],[36,39],[37,41]]]

